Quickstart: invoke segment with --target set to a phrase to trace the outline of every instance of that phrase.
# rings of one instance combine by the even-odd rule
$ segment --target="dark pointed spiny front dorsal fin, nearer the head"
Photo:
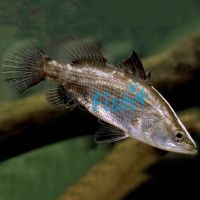
[[[135,51],[122,63],[122,66],[126,72],[150,83],[150,72],[145,74],[144,66]]]

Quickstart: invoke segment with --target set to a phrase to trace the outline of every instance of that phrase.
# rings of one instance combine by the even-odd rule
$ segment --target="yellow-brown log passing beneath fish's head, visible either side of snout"
[[[186,110],[180,118],[193,133],[200,133],[200,109]],[[133,139],[119,142],[59,200],[120,200],[150,178],[145,170],[162,155],[155,148]]]

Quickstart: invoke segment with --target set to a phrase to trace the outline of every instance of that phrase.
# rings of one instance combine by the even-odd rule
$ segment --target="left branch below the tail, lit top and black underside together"
[[[75,126],[75,124],[78,126]],[[96,118],[79,108],[58,112],[44,95],[0,105],[0,161],[33,148],[81,135],[92,135]]]

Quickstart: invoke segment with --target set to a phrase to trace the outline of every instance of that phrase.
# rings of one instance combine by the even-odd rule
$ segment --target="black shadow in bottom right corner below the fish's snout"
[[[200,141],[200,137],[195,137]],[[147,174],[152,177],[138,189],[129,193],[124,200],[129,199],[198,199],[200,179],[200,155],[179,156],[152,166]]]

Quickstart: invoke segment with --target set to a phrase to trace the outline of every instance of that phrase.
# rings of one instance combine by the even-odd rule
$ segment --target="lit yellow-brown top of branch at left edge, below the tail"
[[[42,95],[34,95],[0,104],[0,138],[23,131],[33,121],[48,121],[57,113],[50,109]]]

